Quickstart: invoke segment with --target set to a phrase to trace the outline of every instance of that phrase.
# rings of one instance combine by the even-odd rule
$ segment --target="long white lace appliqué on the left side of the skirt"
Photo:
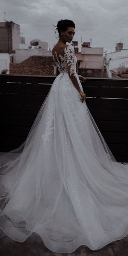
[[[49,136],[52,135],[53,133],[53,120],[54,120],[54,104],[50,104],[48,106],[48,116],[46,120],[46,131],[44,134],[41,136],[43,139],[43,148],[46,145],[46,142],[49,142]]]

